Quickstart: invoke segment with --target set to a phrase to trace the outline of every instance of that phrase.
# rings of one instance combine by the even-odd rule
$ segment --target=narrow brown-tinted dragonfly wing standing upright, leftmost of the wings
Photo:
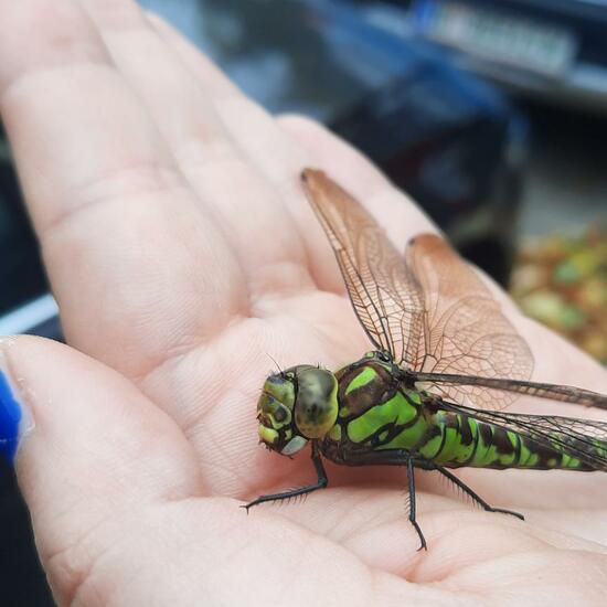
[[[425,316],[419,283],[354,198],[321,171],[305,170],[302,181],[369,338],[395,361],[413,366]]]

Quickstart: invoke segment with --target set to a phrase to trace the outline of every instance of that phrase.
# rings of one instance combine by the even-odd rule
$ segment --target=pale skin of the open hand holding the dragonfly
[[[305,504],[238,508],[308,482],[257,445],[274,368],[369,344],[298,174],[322,168],[394,242],[435,227],[320,126],[273,118],[126,0],[0,0],[0,109],[70,345],[1,342],[35,426],[17,460],[60,605],[604,603],[607,476],[461,470],[490,503],[418,472],[328,465]],[[522,318],[534,379],[606,386]],[[522,411],[599,416],[575,405]]]

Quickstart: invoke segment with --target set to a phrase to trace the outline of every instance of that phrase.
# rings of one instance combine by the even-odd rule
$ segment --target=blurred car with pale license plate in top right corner
[[[529,97],[607,114],[606,0],[387,2],[397,10],[384,25],[451,50],[458,66]]]

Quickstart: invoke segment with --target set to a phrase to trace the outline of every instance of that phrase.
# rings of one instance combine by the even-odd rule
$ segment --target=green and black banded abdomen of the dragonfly
[[[499,425],[479,422],[466,414],[439,411],[435,416],[437,435],[419,446],[424,458],[449,468],[524,468],[590,470],[586,464],[554,443],[554,448],[536,443]],[[561,438],[565,444],[575,439]]]

